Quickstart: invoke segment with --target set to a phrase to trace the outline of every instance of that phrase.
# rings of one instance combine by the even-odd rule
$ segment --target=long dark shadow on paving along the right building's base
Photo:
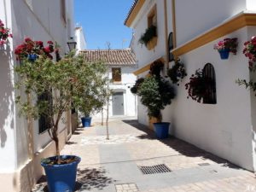
[[[138,136],[140,139],[157,139],[154,136],[154,131],[148,129],[148,126],[142,125],[138,123],[137,120],[123,120],[124,123],[131,125],[135,128],[137,128],[140,131],[143,131],[145,134]],[[180,154],[183,154],[188,157],[201,157],[203,159],[212,160],[218,164],[222,164],[222,166],[228,166],[230,168],[240,169],[239,166],[235,166],[234,164],[230,163],[228,160],[224,160],[214,154],[211,154],[205,150],[202,150],[201,148],[195,147],[195,145],[184,142],[181,139],[178,139],[176,137],[168,137],[166,139],[160,139],[161,143],[166,144],[168,147],[175,149]]]

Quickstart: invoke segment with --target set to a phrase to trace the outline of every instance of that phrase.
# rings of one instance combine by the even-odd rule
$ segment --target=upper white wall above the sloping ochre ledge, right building
[[[247,8],[241,0],[176,1],[177,46]]]

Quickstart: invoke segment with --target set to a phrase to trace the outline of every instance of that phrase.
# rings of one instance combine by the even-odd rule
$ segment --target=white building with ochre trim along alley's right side
[[[154,17],[157,44],[147,49],[138,40]],[[149,20],[149,21],[148,21]],[[177,97],[163,111],[163,121],[172,124],[172,133],[197,147],[216,154],[247,170],[256,170],[256,97],[236,79],[252,79],[243,44],[256,35],[254,0],[136,0],[125,25],[134,29],[131,48],[138,61],[138,77],[148,73],[150,64],[162,58],[166,68],[170,50],[185,63],[188,76],[177,87]],[[168,38],[172,41],[168,41]],[[237,55],[221,60],[213,44],[224,38],[238,38]],[[170,40],[170,39],[169,39]],[[173,44],[169,44],[169,43]],[[172,47],[173,46],[173,47]],[[174,49],[173,49],[174,48]],[[216,104],[187,99],[184,84],[198,68],[211,63],[216,78]],[[138,119],[148,125],[146,108],[138,104]]]

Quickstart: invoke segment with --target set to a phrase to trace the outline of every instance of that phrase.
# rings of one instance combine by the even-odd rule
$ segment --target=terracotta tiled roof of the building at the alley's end
[[[136,65],[131,49],[85,49],[80,51],[86,61],[104,61],[108,65]]]

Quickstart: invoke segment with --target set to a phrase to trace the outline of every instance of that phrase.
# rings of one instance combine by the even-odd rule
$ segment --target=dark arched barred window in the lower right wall
[[[206,86],[206,96],[203,97],[203,103],[205,104],[216,104],[216,81],[215,81],[215,71],[211,63],[207,63],[203,69],[203,78],[207,84]]]

